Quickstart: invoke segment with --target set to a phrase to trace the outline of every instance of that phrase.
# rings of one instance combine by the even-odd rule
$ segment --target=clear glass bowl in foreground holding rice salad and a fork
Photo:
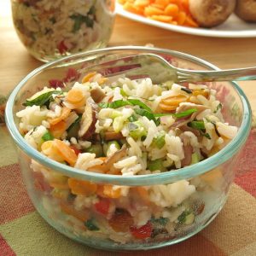
[[[73,84],[79,80],[79,70],[86,71],[96,63],[137,53],[162,55],[177,67],[218,69],[207,61],[168,49],[96,49],[38,67],[21,80],[7,102],[6,123],[19,148],[20,168],[33,205],[55,230],[91,247],[147,250],[175,244],[204,229],[224,207],[236,161],[250,131],[251,109],[247,97],[236,83],[218,82],[207,85],[216,90],[216,97],[224,106],[225,121],[238,126],[238,133],[218,153],[177,171],[134,177],[81,171],[50,160],[26,143],[20,135],[15,113],[24,108],[22,103],[29,96],[45,85]],[[94,192],[73,195],[67,185],[71,177],[83,181],[84,188],[92,186]],[[106,199],[97,194],[96,188],[109,185],[125,188],[126,195]],[[149,199],[148,203],[145,188],[167,189],[168,203],[162,204],[163,194],[158,200]],[[109,216],[110,208],[115,218]],[[134,225],[135,218],[140,224]]]

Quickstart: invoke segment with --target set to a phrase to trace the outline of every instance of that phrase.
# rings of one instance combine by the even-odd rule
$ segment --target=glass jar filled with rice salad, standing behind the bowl
[[[12,0],[16,32],[40,61],[105,47],[114,21],[114,0]]]

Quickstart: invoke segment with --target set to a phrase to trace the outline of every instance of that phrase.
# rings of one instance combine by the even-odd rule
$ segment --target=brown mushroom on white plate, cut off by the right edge
[[[236,15],[248,22],[256,21],[256,1],[255,0],[237,0]]]

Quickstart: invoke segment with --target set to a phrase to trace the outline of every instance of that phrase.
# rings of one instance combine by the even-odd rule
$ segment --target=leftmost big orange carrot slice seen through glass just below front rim
[[[73,177],[68,178],[68,186],[74,195],[94,195],[96,193],[96,183],[90,183],[86,180],[79,180]]]

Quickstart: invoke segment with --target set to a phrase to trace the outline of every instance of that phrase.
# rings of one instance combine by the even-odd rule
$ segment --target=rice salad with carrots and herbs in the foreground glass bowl
[[[132,177],[178,172],[230,143],[238,128],[224,122],[215,96],[205,84],[87,73],[73,86],[44,87],[16,115],[26,142],[46,157],[84,172]],[[137,187],[67,177],[35,160],[31,168],[49,218],[75,236],[121,244],[183,236],[211,218],[203,214],[212,212],[209,201],[224,183],[219,168]]]

